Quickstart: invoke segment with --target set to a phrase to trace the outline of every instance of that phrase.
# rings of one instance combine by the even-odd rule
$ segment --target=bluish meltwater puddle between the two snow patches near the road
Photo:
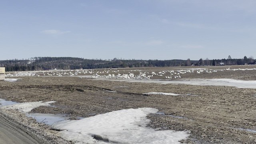
[[[55,122],[59,122],[69,118],[69,117],[64,117],[62,115],[58,115],[58,114],[40,114],[40,113],[26,114],[26,116],[36,119],[37,122],[48,124],[48,125],[52,125]]]

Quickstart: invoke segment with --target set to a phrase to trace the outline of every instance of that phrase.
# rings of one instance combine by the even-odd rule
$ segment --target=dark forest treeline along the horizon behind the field
[[[242,65],[255,64],[253,58],[244,56],[242,59],[221,60],[124,60],[114,58],[112,60],[84,59],[72,57],[34,57],[28,60],[0,60],[0,67],[6,71],[31,71],[53,69],[94,69],[94,68],[139,68],[139,67],[172,67],[172,66],[217,66],[217,65]]]

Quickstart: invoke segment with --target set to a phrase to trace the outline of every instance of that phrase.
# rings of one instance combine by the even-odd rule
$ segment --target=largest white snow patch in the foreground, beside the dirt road
[[[131,108],[81,120],[64,120],[53,124],[53,127],[62,129],[62,138],[76,144],[178,144],[179,140],[189,136],[184,131],[146,128],[149,122],[147,114],[157,111],[154,108]]]

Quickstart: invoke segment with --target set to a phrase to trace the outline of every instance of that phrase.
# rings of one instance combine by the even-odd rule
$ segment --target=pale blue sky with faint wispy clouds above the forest
[[[1,0],[0,60],[255,55],[256,0]]]

